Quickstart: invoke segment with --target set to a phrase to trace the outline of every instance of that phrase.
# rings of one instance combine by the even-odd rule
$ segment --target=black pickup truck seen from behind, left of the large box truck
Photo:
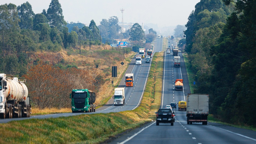
[[[156,114],[157,126],[159,126],[159,123],[171,123],[171,126],[173,126],[175,113],[171,109],[159,109]]]

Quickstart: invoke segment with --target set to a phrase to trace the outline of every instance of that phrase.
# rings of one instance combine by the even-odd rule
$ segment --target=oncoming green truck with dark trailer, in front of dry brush
[[[73,89],[69,98],[71,98],[72,113],[76,112],[95,112],[96,93],[88,89]]]

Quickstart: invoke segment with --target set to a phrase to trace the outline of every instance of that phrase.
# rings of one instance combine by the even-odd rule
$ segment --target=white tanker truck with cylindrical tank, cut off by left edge
[[[30,117],[31,105],[26,104],[26,79],[20,81],[12,75],[0,74],[0,118]]]

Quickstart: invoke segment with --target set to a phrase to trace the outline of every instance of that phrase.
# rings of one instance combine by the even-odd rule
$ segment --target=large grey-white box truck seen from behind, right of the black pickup
[[[202,122],[207,125],[209,94],[187,94],[187,124]]]

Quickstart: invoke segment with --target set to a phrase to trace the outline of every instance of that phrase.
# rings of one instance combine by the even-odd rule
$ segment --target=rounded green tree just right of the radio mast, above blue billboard
[[[131,32],[129,35],[129,39],[131,41],[144,41],[145,38],[145,32],[142,30],[142,27],[138,23],[135,23],[131,27]]]

